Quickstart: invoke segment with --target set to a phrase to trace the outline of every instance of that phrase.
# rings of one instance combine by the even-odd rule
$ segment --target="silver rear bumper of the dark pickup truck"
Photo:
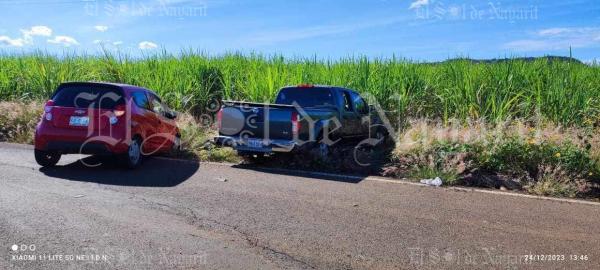
[[[250,145],[249,140],[262,141],[260,145]],[[258,153],[289,153],[297,148],[295,141],[289,140],[261,140],[261,139],[242,139],[240,137],[217,136],[215,144],[218,146],[231,147],[242,152],[258,152]]]

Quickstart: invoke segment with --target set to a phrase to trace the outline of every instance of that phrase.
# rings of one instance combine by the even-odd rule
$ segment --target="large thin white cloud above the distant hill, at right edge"
[[[504,44],[516,51],[564,50],[600,46],[600,27],[547,28],[533,34],[531,38]]]

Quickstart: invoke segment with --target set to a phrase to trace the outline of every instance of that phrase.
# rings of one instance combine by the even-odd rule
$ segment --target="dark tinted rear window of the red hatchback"
[[[123,91],[118,88],[96,85],[68,85],[58,88],[52,97],[55,106],[74,108],[114,109],[125,104]]]

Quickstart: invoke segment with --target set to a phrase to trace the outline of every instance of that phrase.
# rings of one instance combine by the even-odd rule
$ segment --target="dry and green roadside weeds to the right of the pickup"
[[[597,197],[598,131],[525,122],[413,121],[399,137],[388,174],[441,177],[446,184]]]

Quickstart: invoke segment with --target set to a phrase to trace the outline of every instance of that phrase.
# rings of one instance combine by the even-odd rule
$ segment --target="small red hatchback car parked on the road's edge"
[[[116,83],[61,84],[35,130],[35,160],[54,166],[63,154],[117,155],[129,168],[179,147],[176,113],[145,88]]]

